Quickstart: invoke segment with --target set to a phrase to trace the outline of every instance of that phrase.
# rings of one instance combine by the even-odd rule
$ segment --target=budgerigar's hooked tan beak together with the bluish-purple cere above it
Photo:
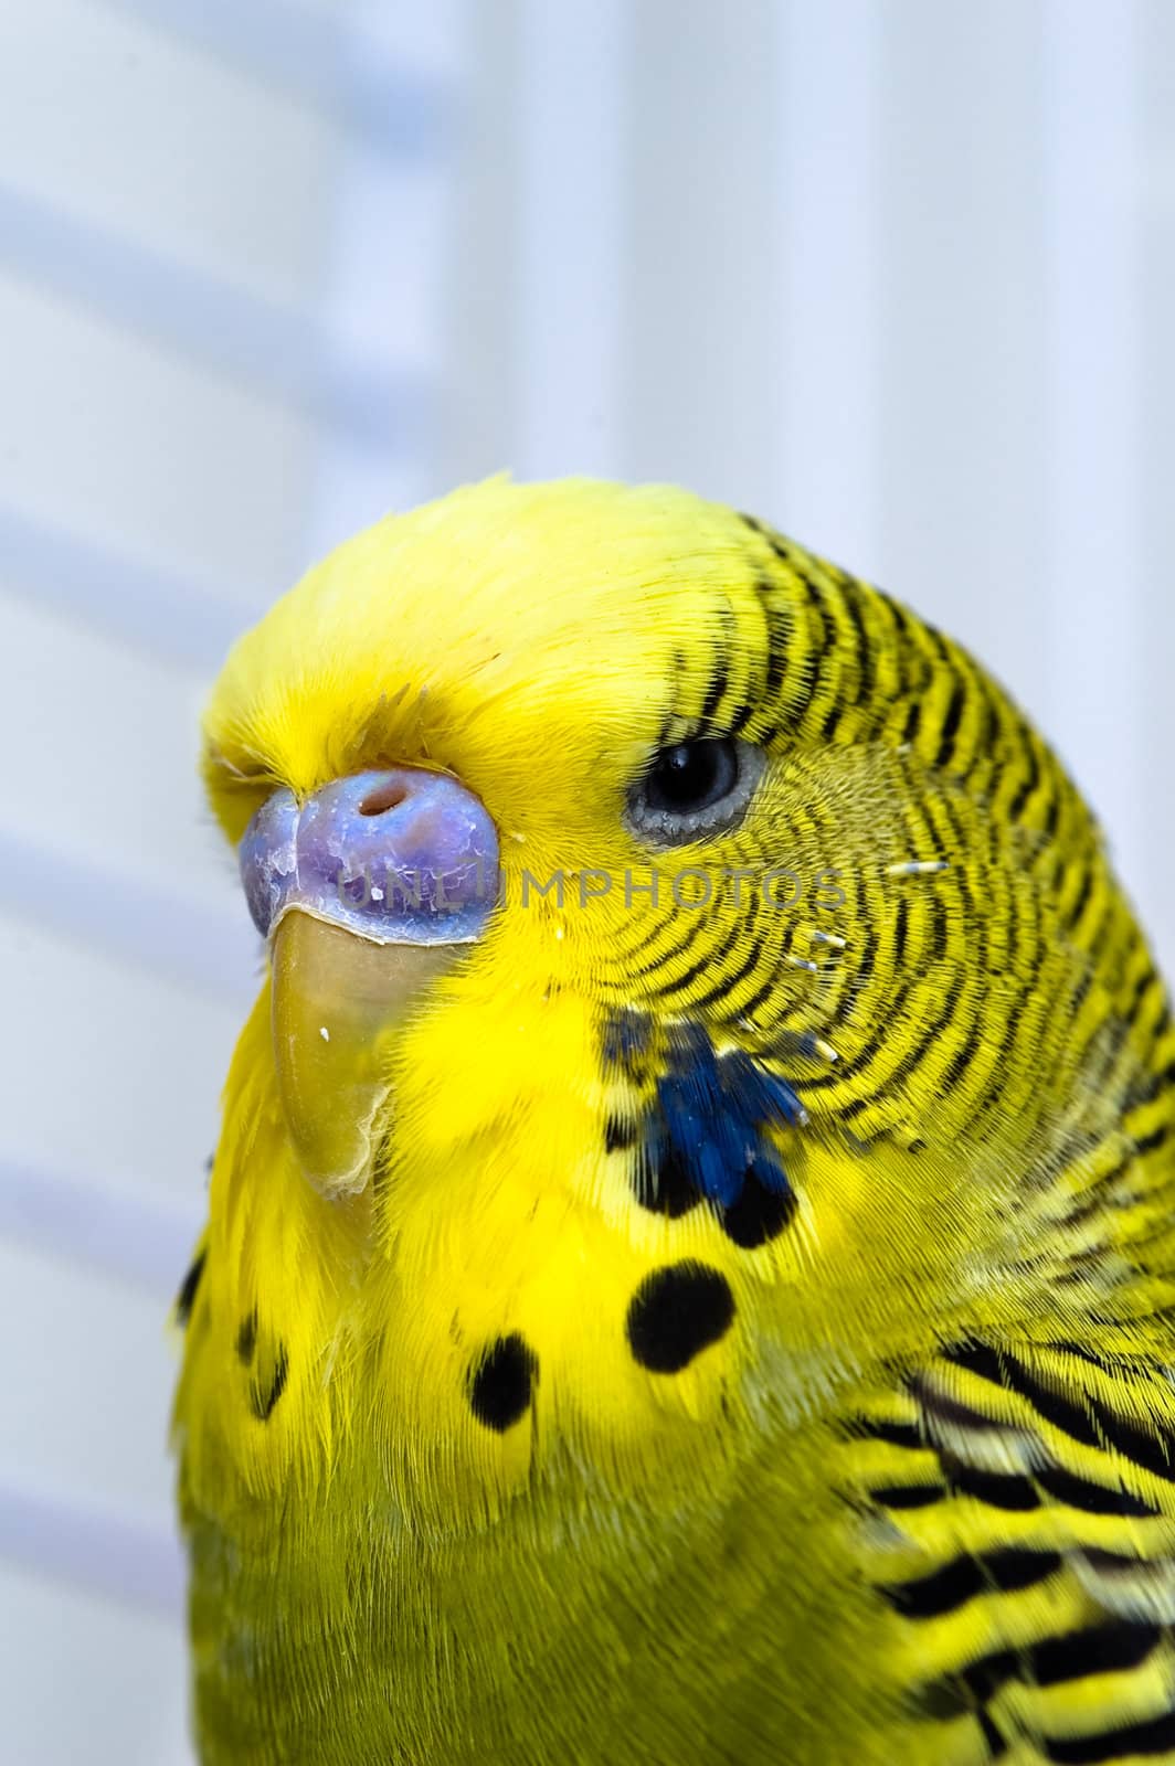
[[[240,874],[270,945],[290,1139],[316,1189],[353,1194],[389,1091],[385,1033],[481,938],[497,830],[449,774],[355,774],[302,805],[276,791],[240,842]]]

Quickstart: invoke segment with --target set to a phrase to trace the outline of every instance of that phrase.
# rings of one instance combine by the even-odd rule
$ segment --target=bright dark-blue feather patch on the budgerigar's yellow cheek
[[[770,1127],[800,1127],[807,1116],[786,1083],[740,1049],[719,1054],[700,1024],[675,1024],[668,1067],[657,1081],[657,1114],[647,1125],[654,1167],[673,1162],[701,1196],[732,1208],[747,1176],[769,1192],[792,1192]]]

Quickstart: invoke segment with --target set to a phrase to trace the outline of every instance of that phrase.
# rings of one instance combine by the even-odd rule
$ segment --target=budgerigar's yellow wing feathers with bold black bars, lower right
[[[873,1575],[954,1759],[1175,1762],[1168,1370],[968,1340],[852,1420]]]

